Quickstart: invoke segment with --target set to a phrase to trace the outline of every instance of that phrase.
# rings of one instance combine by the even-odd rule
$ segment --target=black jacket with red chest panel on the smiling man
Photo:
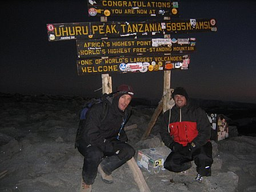
[[[183,144],[183,146],[186,146],[188,142],[194,142],[197,147],[203,146],[207,141],[209,141],[211,137],[211,125],[206,112],[200,107],[191,105],[188,100],[187,105],[181,109],[174,106],[171,109],[171,116],[169,115],[170,110],[165,111],[163,114],[163,125],[160,130],[162,141],[166,146],[169,146],[169,144],[174,140],[175,142]],[[171,136],[169,125],[171,129],[176,126],[177,130],[173,131],[174,133],[176,132],[176,134]],[[194,135],[191,138],[190,135],[181,135],[181,133]]]

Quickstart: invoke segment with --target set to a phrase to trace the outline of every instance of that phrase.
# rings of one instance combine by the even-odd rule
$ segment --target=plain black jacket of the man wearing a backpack
[[[121,95],[115,97],[103,97],[103,102],[91,107],[86,114],[86,120],[82,122],[82,140],[88,145],[100,147],[107,150],[110,142],[117,138],[123,121],[127,122],[131,114],[131,107],[127,106],[125,111],[118,108],[118,100]],[[103,105],[107,103],[107,115],[103,119]],[[103,119],[103,121],[102,121]],[[126,142],[127,136],[122,128],[119,140]]]

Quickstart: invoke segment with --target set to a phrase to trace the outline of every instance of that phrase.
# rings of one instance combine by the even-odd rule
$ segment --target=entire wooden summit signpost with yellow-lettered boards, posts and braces
[[[195,53],[195,38],[178,33],[216,32],[214,18],[181,19],[179,1],[87,0],[89,17],[101,22],[47,24],[49,41],[76,40],[78,75],[102,74],[102,93],[112,92],[108,73],[163,71],[163,98],[142,139],[149,136],[161,111],[171,99],[171,70],[187,70]],[[107,21],[107,17],[155,17],[149,21]],[[163,18],[163,19],[162,19]],[[135,159],[127,162],[141,192],[150,192]]]

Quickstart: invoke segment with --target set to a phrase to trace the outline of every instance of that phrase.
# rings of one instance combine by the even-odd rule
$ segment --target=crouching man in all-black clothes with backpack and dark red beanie
[[[133,94],[131,86],[121,85],[116,93],[103,95],[103,102],[87,112],[82,122],[82,137],[77,142],[78,151],[84,157],[81,191],[91,191],[97,171],[104,182],[113,183],[112,171],[133,157],[135,150],[126,143],[123,129],[131,114],[129,103]],[[103,119],[104,105],[107,115]]]

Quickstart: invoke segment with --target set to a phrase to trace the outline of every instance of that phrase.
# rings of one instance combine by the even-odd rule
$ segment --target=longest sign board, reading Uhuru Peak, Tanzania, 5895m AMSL
[[[155,37],[173,33],[217,31],[215,19],[171,19],[147,22],[83,22],[47,24],[49,41]]]

